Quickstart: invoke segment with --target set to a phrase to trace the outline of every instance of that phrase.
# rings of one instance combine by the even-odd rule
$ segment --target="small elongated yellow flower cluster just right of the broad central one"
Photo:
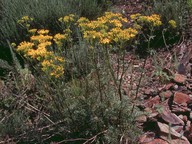
[[[152,14],[150,16],[143,16],[141,14],[133,14],[130,18],[134,21],[149,24],[152,27],[157,27],[162,25],[161,17],[157,14]]]

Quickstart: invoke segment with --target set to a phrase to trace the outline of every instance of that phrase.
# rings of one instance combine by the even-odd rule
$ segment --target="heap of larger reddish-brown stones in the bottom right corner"
[[[145,131],[140,143],[192,143],[192,79],[174,74],[158,92],[147,89],[144,95],[144,103],[139,105],[144,114],[137,118]]]

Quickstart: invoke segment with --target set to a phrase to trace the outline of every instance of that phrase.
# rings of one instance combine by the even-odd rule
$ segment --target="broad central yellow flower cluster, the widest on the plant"
[[[127,22],[127,19],[119,13],[106,12],[104,16],[92,21],[81,17],[77,24],[84,39],[89,42],[111,44],[129,41],[137,35],[136,29],[123,27],[123,23]]]

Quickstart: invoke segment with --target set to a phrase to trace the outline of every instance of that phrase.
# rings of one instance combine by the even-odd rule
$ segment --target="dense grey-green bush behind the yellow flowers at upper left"
[[[35,18],[36,28],[60,30],[57,19],[70,13],[95,18],[107,9],[107,0],[3,0],[0,6],[0,42],[21,41],[26,33],[18,27],[23,16]]]

